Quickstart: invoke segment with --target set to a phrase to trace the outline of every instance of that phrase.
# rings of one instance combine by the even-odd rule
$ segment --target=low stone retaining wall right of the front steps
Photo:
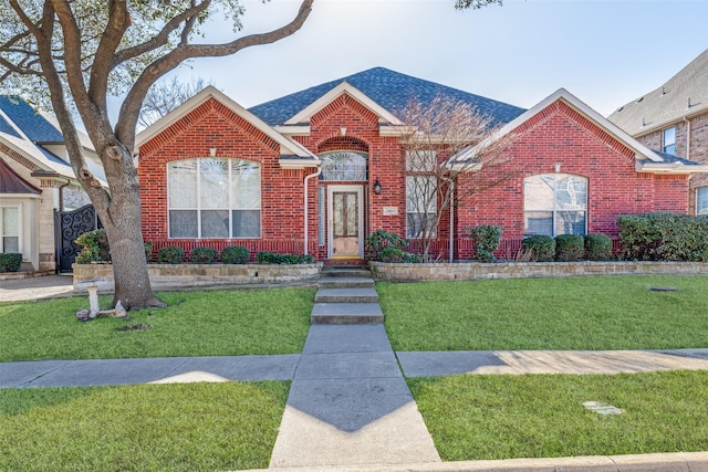
[[[562,277],[614,274],[708,274],[708,262],[459,262],[433,264],[369,263],[374,277],[389,282],[481,279]]]

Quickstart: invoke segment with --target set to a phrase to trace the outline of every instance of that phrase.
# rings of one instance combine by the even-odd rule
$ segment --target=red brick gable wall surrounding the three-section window
[[[303,171],[282,169],[278,164],[280,146],[214,99],[140,147],[138,175],[145,240],[164,240],[168,237],[167,162],[209,157],[209,148],[212,147],[217,148],[217,157],[260,162],[260,239],[302,241]],[[233,244],[241,242],[244,241],[233,240]]]

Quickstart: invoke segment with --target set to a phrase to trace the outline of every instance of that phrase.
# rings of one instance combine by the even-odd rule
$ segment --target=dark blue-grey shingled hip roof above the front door
[[[493,124],[509,123],[525,112],[525,109],[519,108],[518,106],[451,88],[435,82],[412,77],[410,75],[400,74],[385,67],[369,69],[346,77],[315,85],[304,91],[253,106],[249,112],[270,126],[282,125],[303,108],[344,82],[350,83],[378,105],[397,116],[399,112],[408,105],[410,99],[416,98],[426,103],[439,94],[451,96],[452,98],[461,99],[473,105],[480,114],[489,116]]]

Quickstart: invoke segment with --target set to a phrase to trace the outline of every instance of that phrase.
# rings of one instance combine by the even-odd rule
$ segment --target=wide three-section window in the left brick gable
[[[167,165],[170,238],[260,238],[261,168],[237,159]]]

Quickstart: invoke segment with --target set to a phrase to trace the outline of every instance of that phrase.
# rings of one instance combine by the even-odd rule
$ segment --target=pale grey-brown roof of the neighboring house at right
[[[632,136],[641,136],[706,111],[708,111],[708,50],[668,82],[621,106],[607,119]]]

